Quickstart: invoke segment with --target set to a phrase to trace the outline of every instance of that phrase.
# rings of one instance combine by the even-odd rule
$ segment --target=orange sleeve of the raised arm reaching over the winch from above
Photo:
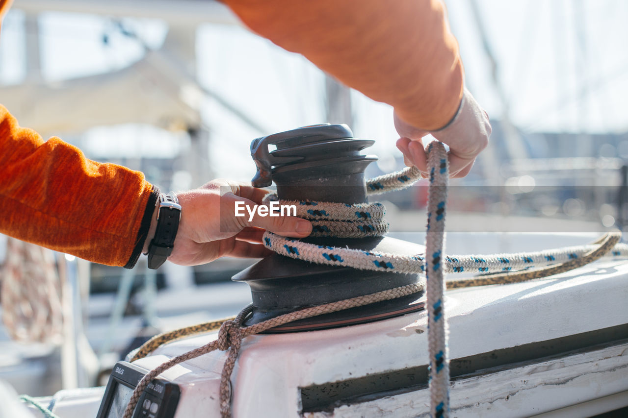
[[[433,131],[462,100],[458,44],[440,0],[225,0],[247,26]]]

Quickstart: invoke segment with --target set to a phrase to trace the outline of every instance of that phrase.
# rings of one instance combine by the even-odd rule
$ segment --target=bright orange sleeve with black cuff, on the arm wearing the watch
[[[0,105],[0,232],[82,259],[133,267],[158,190],[144,174],[44,141]]]

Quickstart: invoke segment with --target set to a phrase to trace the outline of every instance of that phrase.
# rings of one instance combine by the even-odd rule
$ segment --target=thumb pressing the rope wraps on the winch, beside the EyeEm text
[[[229,196],[230,195],[230,196]],[[268,206],[257,205],[252,200],[242,198],[232,193],[222,196],[230,200],[230,207],[234,222],[241,228],[257,227],[286,237],[303,238],[312,231],[311,222],[302,218],[287,216],[290,210],[272,212]]]

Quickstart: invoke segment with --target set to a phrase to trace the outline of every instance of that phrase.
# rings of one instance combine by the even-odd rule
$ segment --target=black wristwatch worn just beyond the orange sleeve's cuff
[[[153,240],[148,245],[149,269],[158,269],[172,254],[180,219],[181,205],[179,205],[175,193],[161,193],[157,212],[157,227]]]

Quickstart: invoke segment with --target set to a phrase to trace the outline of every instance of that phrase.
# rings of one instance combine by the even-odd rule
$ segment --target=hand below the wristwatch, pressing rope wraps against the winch
[[[297,217],[261,217],[249,222],[249,213],[235,216],[236,201],[253,206],[261,203],[269,190],[229,180],[214,180],[206,185],[178,193],[181,221],[170,262],[181,265],[205,264],[224,255],[264,257],[264,230],[287,237],[303,238],[311,233],[311,223]],[[252,209],[252,207],[251,207]],[[151,237],[152,239],[152,237]]]

